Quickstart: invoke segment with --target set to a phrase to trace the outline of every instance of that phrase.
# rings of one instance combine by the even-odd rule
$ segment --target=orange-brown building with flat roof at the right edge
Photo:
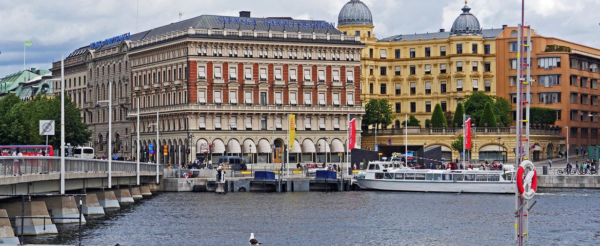
[[[556,110],[556,125],[563,127],[564,137],[564,127],[569,128],[572,154],[575,146],[598,145],[600,49],[536,35],[533,30],[530,49],[529,64],[535,80],[531,85],[531,106]],[[517,101],[517,50],[517,28],[506,27],[496,38],[497,95],[508,98],[513,106]],[[549,158],[563,149],[566,148],[561,145],[541,151]]]

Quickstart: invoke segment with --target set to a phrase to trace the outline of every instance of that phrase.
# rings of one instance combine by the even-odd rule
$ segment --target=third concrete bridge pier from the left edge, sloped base
[[[36,197],[35,200],[46,203],[46,208],[51,217],[61,217],[53,218],[53,223],[79,223],[79,209],[77,208],[79,197],[77,199],[72,196]],[[85,223],[85,217],[82,216],[81,222]]]

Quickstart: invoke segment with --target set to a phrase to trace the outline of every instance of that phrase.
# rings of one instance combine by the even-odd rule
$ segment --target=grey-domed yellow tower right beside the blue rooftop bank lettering
[[[338,15],[338,29],[346,35],[373,37],[373,15],[360,0],[351,0],[341,8]]]

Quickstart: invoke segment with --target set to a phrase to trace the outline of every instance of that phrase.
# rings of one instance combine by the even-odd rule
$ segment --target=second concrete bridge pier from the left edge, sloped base
[[[21,202],[11,202],[5,204],[4,208],[10,216],[21,216]],[[26,201],[25,202],[25,215],[26,216],[39,216],[39,217],[50,217],[46,208],[46,203],[43,201]],[[58,233],[56,225],[52,224],[52,220],[49,218],[26,218],[21,223],[21,219],[16,220],[14,227],[15,234],[21,233],[21,227],[23,227],[23,234],[25,235],[40,235],[40,234],[51,234]]]

